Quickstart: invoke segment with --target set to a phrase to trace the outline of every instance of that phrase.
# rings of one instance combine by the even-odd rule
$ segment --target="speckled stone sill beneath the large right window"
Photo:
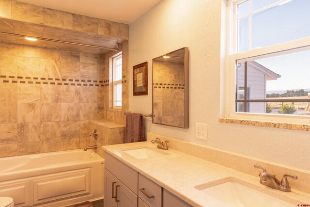
[[[286,129],[293,129],[293,130],[310,131],[310,125],[301,125],[301,124],[261,122],[261,121],[239,120],[239,119],[229,119],[229,118],[219,118],[218,121],[220,123],[228,123],[228,124],[241,124],[241,125],[250,125],[250,126],[256,126],[256,127],[286,128]]]

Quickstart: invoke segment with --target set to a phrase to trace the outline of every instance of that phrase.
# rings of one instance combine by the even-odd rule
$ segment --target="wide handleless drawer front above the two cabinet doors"
[[[121,180],[125,186],[138,195],[138,172],[114,158],[109,153],[105,153],[105,168]]]

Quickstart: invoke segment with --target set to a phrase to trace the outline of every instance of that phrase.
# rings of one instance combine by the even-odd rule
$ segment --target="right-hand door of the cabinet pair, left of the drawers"
[[[130,191],[129,188],[127,188],[124,185],[124,183],[122,183],[120,180],[118,181],[116,192],[117,192],[117,199],[119,200],[118,207],[138,206],[138,196],[135,193],[133,193],[133,191]]]

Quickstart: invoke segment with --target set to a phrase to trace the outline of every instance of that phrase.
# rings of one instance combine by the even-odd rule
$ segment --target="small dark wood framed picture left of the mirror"
[[[147,95],[147,62],[133,66],[134,96]]]

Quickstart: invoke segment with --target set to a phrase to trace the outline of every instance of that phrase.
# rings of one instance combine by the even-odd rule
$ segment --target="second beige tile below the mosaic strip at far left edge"
[[[17,104],[0,103],[0,124],[17,123]]]

